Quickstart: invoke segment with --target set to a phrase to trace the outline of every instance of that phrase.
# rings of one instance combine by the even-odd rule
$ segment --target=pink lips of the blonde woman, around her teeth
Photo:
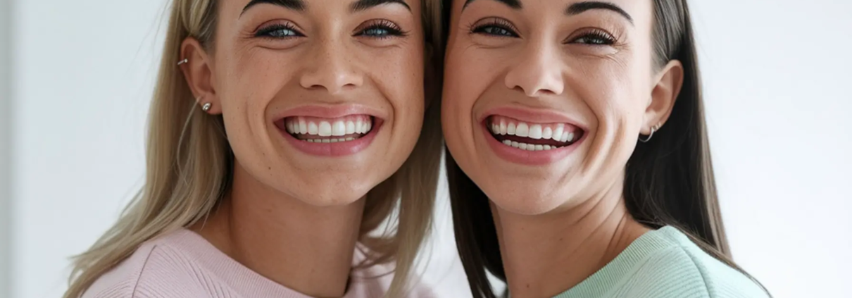
[[[284,136],[292,146],[301,152],[315,156],[325,157],[342,157],[355,154],[365,150],[370,146],[373,140],[376,139],[379,129],[382,129],[383,113],[366,106],[345,105],[345,106],[301,106],[295,109],[285,111],[275,117],[275,121],[283,121],[285,117],[324,117],[337,118],[348,115],[369,115],[373,117],[374,123],[369,133],[355,140],[341,141],[337,143],[312,143],[304,140],[298,140],[284,129],[283,125],[275,125],[279,133]]]

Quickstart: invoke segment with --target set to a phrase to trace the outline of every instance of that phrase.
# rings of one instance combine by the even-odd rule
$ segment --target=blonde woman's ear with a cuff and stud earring
[[[208,55],[198,40],[187,37],[181,43],[181,60],[187,62],[181,64],[183,77],[187,78],[187,85],[193,91],[196,103],[199,106],[210,103],[209,114],[221,114],[222,105],[216,96],[216,88],[213,82],[212,58]]]

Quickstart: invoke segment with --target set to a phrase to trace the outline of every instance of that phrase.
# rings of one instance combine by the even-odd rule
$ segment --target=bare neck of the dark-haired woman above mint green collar
[[[570,209],[545,215],[512,214],[492,203],[512,297],[559,295],[648,232],[627,212],[622,193],[617,183]]]

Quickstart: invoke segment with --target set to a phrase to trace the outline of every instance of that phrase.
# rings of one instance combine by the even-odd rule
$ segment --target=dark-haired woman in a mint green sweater
[[[458,250],[527,297],[765,297],[728,251],[685,0],[446,0]]]

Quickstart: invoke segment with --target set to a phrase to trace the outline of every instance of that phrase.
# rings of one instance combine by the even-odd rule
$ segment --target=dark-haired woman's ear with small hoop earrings
[[[681,61],[671,60],[656,76],[656,84],[651,90],[651,101],[645,109],[645,123],[642,135],[651,133],[654,125],[663,126],[671,115],[677,95],[683,85],[683,65]]]

